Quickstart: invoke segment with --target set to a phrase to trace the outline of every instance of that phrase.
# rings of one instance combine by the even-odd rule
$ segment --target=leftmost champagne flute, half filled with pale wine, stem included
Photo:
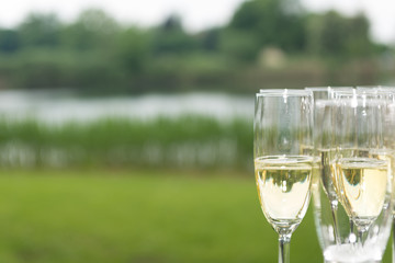
[[[313,181],[313,94],[305,90],[261,90],[256,95],[255,174],[267,220],[279,233],[279,262],[290,262],[293,231],[304,218]]]

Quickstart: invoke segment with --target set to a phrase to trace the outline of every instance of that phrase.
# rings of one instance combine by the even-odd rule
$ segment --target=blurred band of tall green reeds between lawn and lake
[[[61,125],[0,121],[3,167],[250,169],[252,123],[185,115]]]

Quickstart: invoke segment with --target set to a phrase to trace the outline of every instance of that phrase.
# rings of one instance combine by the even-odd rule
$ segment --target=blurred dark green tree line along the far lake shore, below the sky
[[[246,1],[228,24],[199,33],[185,31],[178,15],[140,28],[97,9],[68,24],[55,14],[32,13],[14,28],[0,28],[0,88],[144,92],[369,84],[393,70],[381,64],[392,47],[372,42],[369,26],[363,14],[309,13],[292,0]]]

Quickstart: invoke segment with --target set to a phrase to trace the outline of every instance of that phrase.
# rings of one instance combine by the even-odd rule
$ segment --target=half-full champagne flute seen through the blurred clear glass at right
[[[383,152],[385,103],[376,94],[353,92],[340,99],[336,113],[336,180],[341,203],[358,230],[358,243],[384,207],[391,185],[388,161]],[[339,194],[338,193],[338,194]]]

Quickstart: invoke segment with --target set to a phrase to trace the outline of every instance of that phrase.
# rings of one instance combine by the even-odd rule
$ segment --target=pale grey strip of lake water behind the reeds
[[[46,123],[89,122],[102,117],[153,118],[183,114],[218,119],[253,116],[253,94],[225,93],[144,94],[125,96],[78,96],[59,91],[0,91],[0,115],[32,117]]]

